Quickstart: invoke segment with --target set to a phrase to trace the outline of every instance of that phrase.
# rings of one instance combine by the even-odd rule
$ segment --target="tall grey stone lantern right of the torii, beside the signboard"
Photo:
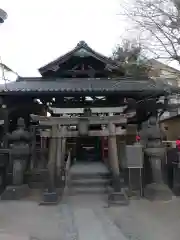
[[[172,192],[164,184],[162,175],[162,158],[164,157],[165,149],[162,144],[160,127],[157,118],[154,116],[149,119],[145,154],[149,157],[153,176],[152,183],[145,188],[145,196],[154,200],[170,200]]]

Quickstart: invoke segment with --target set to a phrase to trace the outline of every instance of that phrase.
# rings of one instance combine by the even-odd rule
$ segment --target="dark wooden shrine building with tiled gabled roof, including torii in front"
[[[10,148],[3,136],[16,130],[19,118],[33,136],[27,179],[41,174],[48,162],[60,175],[69,151],[71,164],[103,163],[119,175],[125,146],[133,145],[142,123],[163,108],[159,98],[177,90],[147,76],[126,76],[123,64],[84,41],[39,72],[41,77],[0,86],[2,149]]]

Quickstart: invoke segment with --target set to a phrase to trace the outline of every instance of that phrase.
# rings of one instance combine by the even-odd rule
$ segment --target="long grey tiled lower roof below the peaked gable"
[[[123,92],[158,92],[170,91],[169,85],[150,79],[42,79],[20,78],[16,82],[0,85],[0,93],[7,92],[59,92],[59,93],[123,93]]]

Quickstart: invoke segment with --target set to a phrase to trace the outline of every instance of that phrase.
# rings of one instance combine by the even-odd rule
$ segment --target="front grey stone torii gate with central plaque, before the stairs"
[[[66,138],[80,136],[106,136],[108,137],[109,165],[114,176],[119,176],[119,160],[117,152],[117,135],[125,135],[126,130],[122,126],[127,125],[124,115],[115,116],[83,116],[83,117],[45,117],[31,115],[34,121],[47,126],[50,130],[41,132],[41,137],[50,138],[48,169],[50,174],[51,190],[55,188],[54,178],[60,174],[60,167],[64,161]],[[90,125],[106,125],[104,130],[89,130]],[[74,131],[69,126],[77,126]],[[57,166],[57,173],[55,173]]]

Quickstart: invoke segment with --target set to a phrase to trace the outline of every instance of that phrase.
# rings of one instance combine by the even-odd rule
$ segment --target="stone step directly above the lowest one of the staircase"
[[[106,178],[93,178],[93,179],[73,179],[70,180],[70,186],[75,187],[105,187],[110,183],[109,179]]]

